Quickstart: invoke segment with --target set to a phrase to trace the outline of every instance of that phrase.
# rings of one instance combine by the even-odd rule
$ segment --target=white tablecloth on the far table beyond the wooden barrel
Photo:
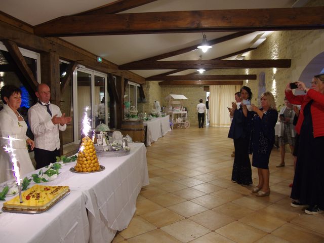
[[[146,146],[156,142],[159,138],[171,131],[170,116],[156,117],[143,122],[146,129]]]

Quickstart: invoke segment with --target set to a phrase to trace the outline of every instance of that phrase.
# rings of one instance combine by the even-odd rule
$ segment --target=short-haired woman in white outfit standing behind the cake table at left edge
[[[34,141],[26,136],[27,124],[17,109],[21,104],[21,91],[19,88],[6,85],[1,89],[1,99],[5,103],[0,111],[0,183],[14,179],[10,155],[3,148],[8,145],[8,136],[19,139],[13,141],[16,158],[20,168],[20,175],[34,171],[27,144],[34,148]]]

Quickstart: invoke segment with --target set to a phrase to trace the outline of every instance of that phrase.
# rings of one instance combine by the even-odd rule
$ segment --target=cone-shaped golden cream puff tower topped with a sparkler
[[[82,139],[82,145],[77,154],[74,170],[77,172],[93,172],[99,169],[100,165],[94,143],[91,138],[86,136]]]

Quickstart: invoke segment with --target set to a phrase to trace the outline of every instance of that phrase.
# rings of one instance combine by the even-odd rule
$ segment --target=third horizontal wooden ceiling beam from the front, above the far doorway
[[[154,78],[150,79],[150,81],[176,81],[176,80],[256,80],[256,74],[242,74],[242,75],[156,75]]]

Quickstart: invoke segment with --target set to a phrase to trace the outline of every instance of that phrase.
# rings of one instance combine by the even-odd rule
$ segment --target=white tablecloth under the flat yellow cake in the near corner
[[[6,199],[11,199],[8,197]],[[2,208],[4,201],[1,201]],[[41,214],[0,214],[0,242],[84,242],[89,239],[85,197],[71,191]]]

